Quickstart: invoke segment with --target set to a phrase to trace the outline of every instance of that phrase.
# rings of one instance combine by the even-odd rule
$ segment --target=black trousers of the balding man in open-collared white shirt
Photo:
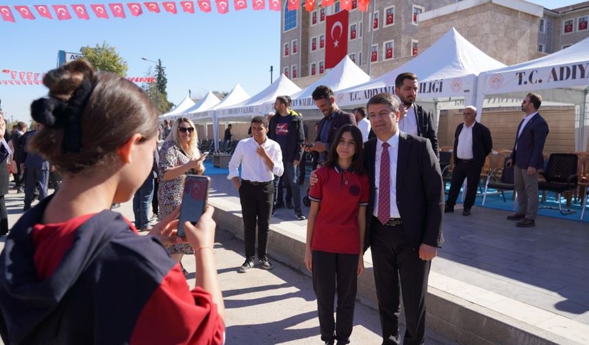
[[[464,197],[464,208],[471,208],[475,205],[475,199],[477,197],[477,188],[479,186],[479,180],[481,179],[481,169],[483,166],[476,163],[473,160],[468,162],[460,162],[454,166],[452,171],[452,181],[450,183],[450,191],[448,192],[447,205],[454,206],[456,199],[458,199],[458,193],[460,193],[460,187],[464,183],[464,179],[468,179],[466,182],[466,196]]]

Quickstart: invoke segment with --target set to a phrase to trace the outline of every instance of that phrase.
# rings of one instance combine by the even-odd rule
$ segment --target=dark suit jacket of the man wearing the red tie
[[[375,156],[377,138],[364,143],[364,168],[370,180],[370,202],[366,208],[366,242],[370,246],[371,223],[375,205]],[[425,138],[399,134],[397,156],[397,208],[410,245],[418,249],[422,243],[440,247],[444,189],[440,162]]]

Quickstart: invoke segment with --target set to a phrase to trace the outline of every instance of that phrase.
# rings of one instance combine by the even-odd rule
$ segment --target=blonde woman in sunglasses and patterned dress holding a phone
[[[201,153],[197,148],[197,132],[195,124],[188,118],[178,118],[166,142],[160,151],[160,186],[158,188],[158,202],[160,204],[160,219],[166,218],[182,202],[184,179],[186,175],[203,175],[205,167]],[[184,254],[193,254],[194,250],[188,243],[174,244],[168,248],[172,259],[182,265]],[[188,272],[182,266],[186,276]]]

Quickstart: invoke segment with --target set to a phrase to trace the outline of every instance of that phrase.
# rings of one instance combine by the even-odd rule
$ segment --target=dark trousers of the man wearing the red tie
[[[371,252],[378,309],[382,329],[382,344],[400,344],[399,296],[403,292],[403,307],[407,329],[404,345],[425,342],[425,294],[431,261],[419,259],[419,253],[407,242],[403,225],[389,227],[373,217]]]

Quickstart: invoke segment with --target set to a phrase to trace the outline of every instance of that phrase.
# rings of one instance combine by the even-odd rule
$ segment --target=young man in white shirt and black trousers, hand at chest
[[[268,227],[274,203],[274,175],[282,176],[284,165],[280,145],[269,139],[268,119],[255,116],[251,119],[252,138],[241,140],[229,161],[229,175],[239,190],[245,229],[245,262],[240,272],[253,268],[255,254],[255,226],[258,225],[258,264],[272,269],[268,261]],[[238,168],[241,165],[241,182]]]

